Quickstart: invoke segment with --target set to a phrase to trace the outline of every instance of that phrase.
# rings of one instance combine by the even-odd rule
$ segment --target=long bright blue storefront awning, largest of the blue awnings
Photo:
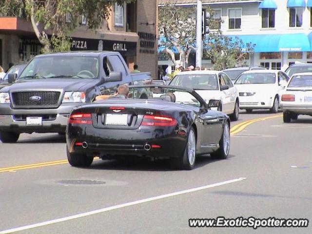
[[[254,52],[311,51],[310,39],[304,33],[272,35],[240,35],[244,44],[255,44]],[[312,37],[312,36],[311,36]]]

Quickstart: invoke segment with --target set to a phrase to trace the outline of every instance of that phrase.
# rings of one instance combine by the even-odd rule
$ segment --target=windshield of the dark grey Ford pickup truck
[[[86,56],[38,57],[27,65],[19,79],[97,78],[98,58]]]

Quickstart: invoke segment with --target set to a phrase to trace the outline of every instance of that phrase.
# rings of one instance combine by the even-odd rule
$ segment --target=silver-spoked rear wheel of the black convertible
[[[183,170],[192,170],[196,160],[196,136],[194,128],[191,127],[187,137],[187,143],[184,149],[183,156],[171,158],[174,168]]]

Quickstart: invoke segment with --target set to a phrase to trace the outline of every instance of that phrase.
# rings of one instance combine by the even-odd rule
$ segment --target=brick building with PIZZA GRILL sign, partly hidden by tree
[[[70,17],[66,17],[70,20]],[[71,50],[118,51],[130,70],[134,64],[144,72],[157,71],[157,1],[137,0],[134,3],[113,5],[110,16],[100,29],[87,30],[81,18],[71,34]],[[40,53],[30,21],[15,17],[0,17],[0,65],[27,61]]]

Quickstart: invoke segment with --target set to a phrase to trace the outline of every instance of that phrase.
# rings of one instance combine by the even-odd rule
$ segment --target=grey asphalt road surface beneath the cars
[[[232,127],[269,116],[267,111],[242,112]],[[19,233],[311,234],[311,223],[257,230],[188,226],[189,218],[217,216],[311,222],[311,133],[312,117],[290,124],[281,117],[256,121],[232,135],[227,160],[201,156],[192,171],[172,170],[167,160],[95,160],[90,168],[74,168],[63,161],[63,136],[22,135],[16,144],[0,143],[0,233],[34,224]],[[28,166],[20,170],[20,165]]]

